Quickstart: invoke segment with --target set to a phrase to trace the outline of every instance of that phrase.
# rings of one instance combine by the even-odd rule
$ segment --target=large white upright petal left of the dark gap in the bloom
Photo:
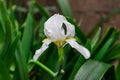
[[[44,24],[45,35],[53,41],[64,39],[65,35],[61,29],[63,21],[66,21],[65,17],[59,14],[50,17]]]

